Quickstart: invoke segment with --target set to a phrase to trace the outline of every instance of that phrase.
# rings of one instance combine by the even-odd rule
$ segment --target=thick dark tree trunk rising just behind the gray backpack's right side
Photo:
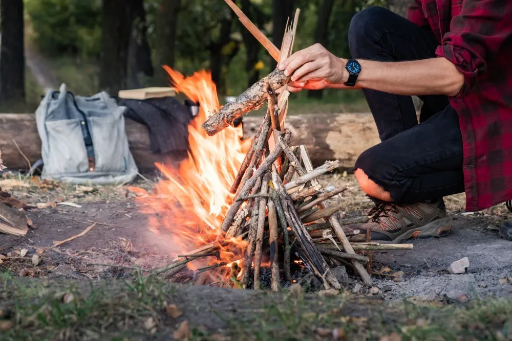
[[[126,88],[130,36],[137,1],[103,0],[99,86],[113,96]]]

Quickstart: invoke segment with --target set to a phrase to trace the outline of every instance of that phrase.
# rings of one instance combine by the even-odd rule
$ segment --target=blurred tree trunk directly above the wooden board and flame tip
[[[167,73],[162,65],[174,67],[176,58],[176,31],[181,0],[163,0],[158,7],[155,34],[157,43],[155,54],[157,61],[156,79],[160,85],[167,85]]]

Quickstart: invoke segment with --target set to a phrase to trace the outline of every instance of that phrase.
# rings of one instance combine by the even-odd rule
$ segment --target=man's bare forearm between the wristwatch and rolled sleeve
[[[455,96],[464,76],[445,58],[382,62],[358,60],[361,73],[356,85],[397,95]],[[338,84],[333,87],[343,87]]]

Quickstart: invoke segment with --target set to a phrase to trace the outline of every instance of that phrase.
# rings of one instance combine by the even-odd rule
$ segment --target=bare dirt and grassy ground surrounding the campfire
[[[321,180],[326,187],[354,184],[344,174]],[[152,182],[137,186],[151,188]],[[173,334],[183,321],[192,339],[329,339],[333,332],[348,339],[399,339],[393,332],[403,339],[428,339],[434,332],[445,333],[444,339],[463,332],[512,339],[512,242],[493,228],[510,218],[502,207],[465,214],[463,196],[446,198],[454,216],[449,236],[414,240],[410,251],[375,253],[374,270],[389,267],[374,275],[378,294],[365,287],[353,294],[351,281],[335,297],[319,297],[293,289],[257,293],[173,284],[131,268],[97,265],[151,268],[169,261],[165,242],[148,230],[147,217],[125,186],[73,187],[7,176],[0,187],[39,207],[60,201],[27,211],[34,229],[26,237],[0,235],[0,254],[12,256],[0,264],[0,329],[7,331],[0,340],[185,339]],[[371,207],[356,186],[335,200],[346,203],[347,216]],[[69,202],[80,207],[63,204]],[[50,248],[94,222],[87,234]],[[37,266],[33,255],[42,259]],[[450,275],[446,268],[463,257],[470,260],[467,273]],[[397,271],[403,271],[400,280],[387,276]],[[166,304],[177,305],[183,315],[169,316],[174,308],[166,313]]]

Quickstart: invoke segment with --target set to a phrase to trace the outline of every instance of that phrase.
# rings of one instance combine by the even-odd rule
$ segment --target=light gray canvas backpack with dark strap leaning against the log
[[[124,130],[125,109],[105,92],[74,96],[66,84],[58,92],[48,91],[36,110],[41,177],[96,185],[135,179],[138,169]]]

